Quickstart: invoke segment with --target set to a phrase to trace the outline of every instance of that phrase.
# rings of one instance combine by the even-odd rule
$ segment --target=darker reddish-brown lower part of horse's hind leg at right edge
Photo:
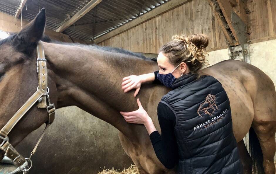
[[[275,132],[276,121],[253,122],[253,128],[260,142],[263,154],[263,168],[265,174],[275,174]]]

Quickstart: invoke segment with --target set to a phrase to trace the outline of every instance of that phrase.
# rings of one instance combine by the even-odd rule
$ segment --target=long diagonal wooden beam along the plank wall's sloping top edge
[[[101,37],[98,37],[94,41],[97,44],[100,42],[103,42],[103,41],[109,39],[110,37],[114,37],[120,33],[123,33],[126,30],[136,27],[137,25],[140,25],[141,23],[149,21],[150,19],[152,19],[158,15],[161,15],[163,13],[166,13],[167,11],[169,11],[173,8],[176,8],[178,6],[181,6],[189,1],[192,1],[192,0],[170,0],[170,1],[167,1],[165,4],[162,4],[154,9],[152,9],[151,11],[144,13],[143,15],[139,16],[138,18],[135,18],[132,21],[129,21],[128,23],[116,28],[115,30],[110,31]]]

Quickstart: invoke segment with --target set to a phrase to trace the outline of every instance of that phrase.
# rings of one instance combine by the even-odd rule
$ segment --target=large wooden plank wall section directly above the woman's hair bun
[[[222,30],[206,0],[190,1],[99,45],[120,47],[134,52],[158,53],[174,34],[204,33],[211,39],[208,49],[227,46]]]

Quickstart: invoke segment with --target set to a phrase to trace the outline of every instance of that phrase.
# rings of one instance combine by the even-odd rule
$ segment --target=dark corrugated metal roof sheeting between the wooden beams
[[[14,16],[20,1],[1,0],[0,11]],[[93,40],[166,1],[169,0],[103,0],[63,33],[80,40]],[[45,7],[46,27],[57,30],[88,2],[90,0],[27,0],[22,16],[23,19],[31,21],[39,9]]]

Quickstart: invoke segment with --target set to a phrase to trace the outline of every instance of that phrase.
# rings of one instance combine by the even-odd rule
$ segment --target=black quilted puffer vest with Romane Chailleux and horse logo
[[[242,173],[229,99],[217,79],[181,76],[161,102],[175,113],[179,173]]]

